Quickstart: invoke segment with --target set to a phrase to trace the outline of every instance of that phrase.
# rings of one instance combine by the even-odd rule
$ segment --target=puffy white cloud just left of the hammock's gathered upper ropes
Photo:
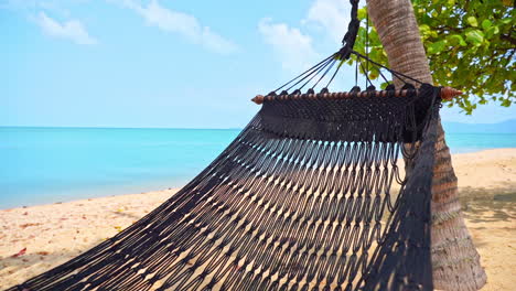
[[[284,23],[272,23],[271,19],[266,18],[260,20],[258,30],[275,50],[282,68],[288,72],[301,73],[319,58],[312,46],[312,39],[299,29],[289,28]]]

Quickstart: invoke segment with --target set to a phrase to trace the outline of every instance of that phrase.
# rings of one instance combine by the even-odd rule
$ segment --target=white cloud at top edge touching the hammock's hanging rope
[[[332,40],[340,43],[347,31],[350,14],[348,0],[315,0],[304,22],[322,26]]]

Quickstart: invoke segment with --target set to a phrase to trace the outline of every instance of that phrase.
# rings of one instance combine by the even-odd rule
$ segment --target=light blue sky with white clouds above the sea
[[[340,48],[348,14],[347,0],[0,0],[0,126],[241,128],[250,98]],[[332,90],[353,87],[342,71]]]

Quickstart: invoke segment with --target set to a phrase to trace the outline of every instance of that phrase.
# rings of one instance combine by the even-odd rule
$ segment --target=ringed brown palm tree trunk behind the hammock
[[[428,58],[410,0],[367,0],[367,6],[369,18],[387,53],[390,68],[432,84]],[[396,86],[399,85],[398,82]],[[464,224],[456,176],[441,122],[438,134],[431,203],[434,288],[479,290],[486,282],[486,274]]]

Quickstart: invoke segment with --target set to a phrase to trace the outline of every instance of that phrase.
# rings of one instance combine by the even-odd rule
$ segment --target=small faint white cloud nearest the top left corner
[[[69,20],[63,23],[46,15],[45,12],[40,12],[36,18],[36,23],[46,34],[71,40],[77,44],[96,44],[97,40],[92,37],[83,23],[78,20]]]

